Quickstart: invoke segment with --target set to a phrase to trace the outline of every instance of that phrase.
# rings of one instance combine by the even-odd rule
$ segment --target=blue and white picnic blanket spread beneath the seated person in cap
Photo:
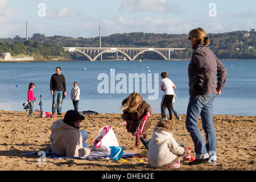
[[[26,153],[23,153],[23,155],[38,155],[38,152],[39,151],[26,152]],[[138,154],[123,151],[122,158],[131,158],[134,155],[138,155]],[[110,151],[91,151],[90,154],[85,158],[58,156],[53,154],[52,152],[46,152],[46,158],[49,158],[49,159],[108,159],[109,157],[110,157]]]

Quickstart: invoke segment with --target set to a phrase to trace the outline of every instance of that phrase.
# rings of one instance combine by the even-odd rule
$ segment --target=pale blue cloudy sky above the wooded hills
[[[45,6],[39,6],[39,5]],[[214,6],[209,6],[212,5]],[[44,14],[45,13],[45,14]],[[0,0],[0,38],[108,36],[124,32],[188,34],[256,29],[255,0]]]

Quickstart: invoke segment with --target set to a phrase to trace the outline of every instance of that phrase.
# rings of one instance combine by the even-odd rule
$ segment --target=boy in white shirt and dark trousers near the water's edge
[[[170,114],[170,120],[172,120],[172,98],[174,98],[174,89],[176,86],[174,83],[167,78],[167,73],[161,73],[162,80],[160,82],[161,90],[164,92],[162,102],[161,102],[161,114],[162,118],[164,118],[164,109],[167,106],[167,109]]]

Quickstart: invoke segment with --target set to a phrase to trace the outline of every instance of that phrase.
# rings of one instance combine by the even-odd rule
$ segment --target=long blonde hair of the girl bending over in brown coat
[[[127,97],[126,103],[123,105],[121,110],[127,110],[129,113],[137,110],[138,106],[142,104],[142,96],[139,93],[131,93],[129,97]]]

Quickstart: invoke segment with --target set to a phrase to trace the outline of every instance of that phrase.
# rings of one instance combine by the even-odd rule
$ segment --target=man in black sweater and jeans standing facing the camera
[[[61,104],[63,96],[66,96],[66,81],[64,75],[60,74],[61,68],[56,68],[56,73],[52,75],[50,88],[51,94],[53,96],[52,100],[52,115],[56,112],[57,105],[57,114],[61,115]],[[63,93],[64,92],[64,93]]]

